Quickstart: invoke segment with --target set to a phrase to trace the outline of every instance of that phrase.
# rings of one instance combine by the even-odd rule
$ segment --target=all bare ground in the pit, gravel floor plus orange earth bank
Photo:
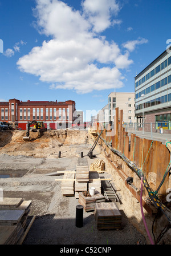
[[[25,238],[25,245],[136,245],[145,238],[129,222],[124,205],[117,202],[122,214],[121,230],[97,230],[93,212],[84,211],[84,225],[75,226],[78,199],[64,197],[54,171],[76,169],[80,152],[87,157],[93,141],[87,131],[47,131],[41,137],[35,132],[31,141],[23,141],[25,131],[0,132],[0,178],[3,195],[32,200],[28,220],[36,215]],[[59,151],[62,152],[58,158]],[[100,158],[100,151],[93,153]],[[87,157],[89,165],[94,159]],[[109,178],[109,174],[101,174]],[[1,177],[1,176],[0,176]],[[63,175],[57,176],[62,179]]]

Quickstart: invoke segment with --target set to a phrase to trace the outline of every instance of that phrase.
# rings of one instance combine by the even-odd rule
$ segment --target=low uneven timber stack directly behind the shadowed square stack
[[[103,195],[101,195],[100,193],[97,193],[97,194],[91,196],[91,195],[89,195],[89,193],[87,191],[80,192],[78,202],[84,207],[85,211],[94,211],[95,203],[96,202],[105,202],[105,197]]]

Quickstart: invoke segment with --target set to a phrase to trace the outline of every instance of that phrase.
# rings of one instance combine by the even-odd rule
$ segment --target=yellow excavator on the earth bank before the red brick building
[[[34,127],[30,127],[30,125],[34,124]],[[38,132],[40,135],[40,132],[47,131],[47,128],[45,128],[45,125],[43,122],[37,122],[35,120],[27,122],[27,132],[26,136],[23,137],[24,141],[30,141],[30,131],[31,132]]]

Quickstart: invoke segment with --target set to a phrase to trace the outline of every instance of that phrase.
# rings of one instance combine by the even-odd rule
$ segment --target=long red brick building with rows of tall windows
[[[14,122],[26,129],[28,121],[43,121],[47,128],[72,127],[75,120],[75,101],[19,101],[0,102],[0,121]]]

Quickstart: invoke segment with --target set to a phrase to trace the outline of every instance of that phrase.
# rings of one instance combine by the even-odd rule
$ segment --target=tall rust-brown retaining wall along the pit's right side
[[[123,110],[121,109],[119,113],[119,108],[116,108],[115,111],[114,127],[111,129],[109,125],[107,129],[104,129],[97,123],[97,133],[100,133],[103,129],[101,137],[103,137],[107,143],[111,143],[113,148],[117,149],[129,160],[134,162],[137,167],[143,171],[146,179],[150,179],[149,174],[153,172],[156,176],[156,186],[154,185],[152,189],[157,190],[168,168],[170,151],[166,145],[162,144],[160,141],[141,139],[133,133],[129,138],[128,132],[125,132],[125,128],[120,125],[123,123]],[[169,175],[165,178],[158,194],[166,194],[168,180]]]

